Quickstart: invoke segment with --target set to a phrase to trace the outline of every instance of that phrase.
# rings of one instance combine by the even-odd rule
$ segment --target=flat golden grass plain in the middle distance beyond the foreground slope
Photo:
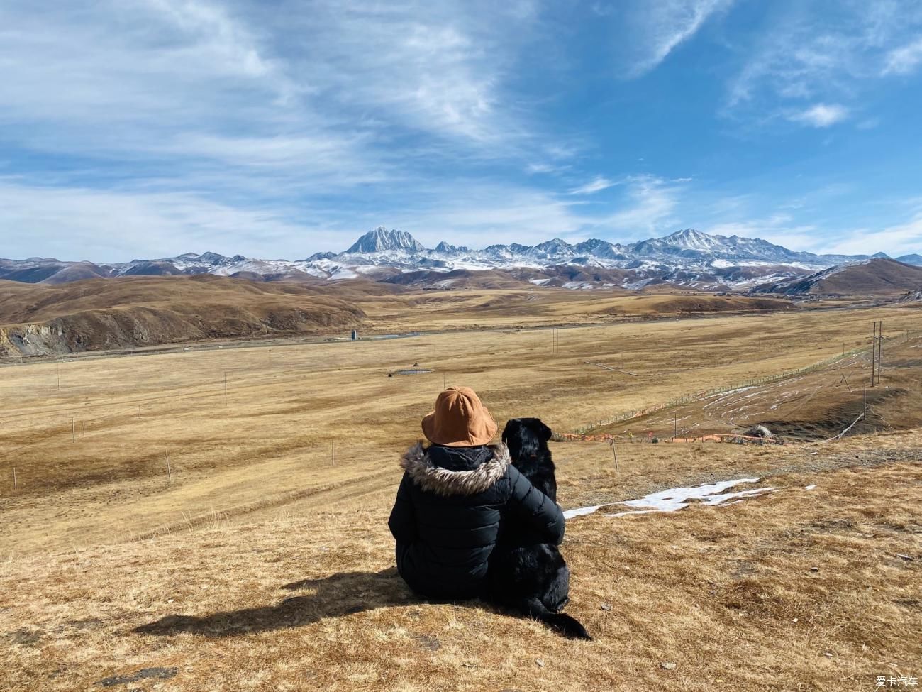
[[[917,311],[878,315],[893,329],[917,324]],[[349,493],[386,487],[382,459],[419,435],[443,382],[478,390],[501,422],[534,414],[567,431],[815,363],[840,352],[845,337],[849,348],[861,344],[866,325],[861,312],[719,317],[561,329],[556,352],[550,330],[537,330],[6,367],[0,395],[17,405],[0,418],[0,555],[124,540],[213,508],[252,514],[308,503],[331,484],[352,483]],[[640,376],[587,360],[622,360]],[[386,376],[415,362],[435,372]],[[891,371],[884,375],[892,386]],[[826,378],[834,389],[837,373]],[[812,391],[792,405],[809,410]]]

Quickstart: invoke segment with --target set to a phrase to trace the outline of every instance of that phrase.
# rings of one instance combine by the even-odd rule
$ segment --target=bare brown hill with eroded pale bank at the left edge
[[[296,283],[254,283],[209,274],[61,286],[0,281],[0,354],[323,333],[359,325],[364,316],[347,300]]]

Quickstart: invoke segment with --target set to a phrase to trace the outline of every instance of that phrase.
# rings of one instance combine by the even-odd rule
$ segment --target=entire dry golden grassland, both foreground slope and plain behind
[[[361,308],[395,332],[570,321],[591,308],[568,297],[518,318],[522,305],[496,316],[478,306],[487,292],[422,299],[393,319],[384,299]],[[564,507],[740,477],[777,488],[727,507],[570,520],[570,612],[595,641],[481,603],[417,602],[388,571],[385,520],[397,455],[444,383],[476,388],[501,424],[538,415],[565,432],[804,367],[843,342],[857,349],[873,319],[895,347],[919,317],[786,311],[6,366],[0,689],[872,690],[878,674],[918,674],[912,335],[899,352],[885,346],[878,390],[907,392],[871,404],[887,432],[784,447],[625,444],[618,471],[608,445],[555,444]],[[891,355],[903,370],[889,369]],[[434,372],[387,376],[415,363]],[[853,404],[833,388],[842,367],[812,374],[785,405],[801,400],[806,420]],[[847,367],[863,384],[867,361]],[[773,390],[756,393],[771,411]],[[709,401],[687,413],[708,420]],[[731,408],[721,404],[721,425]],[[162,677],[125,682],[148,668]]]

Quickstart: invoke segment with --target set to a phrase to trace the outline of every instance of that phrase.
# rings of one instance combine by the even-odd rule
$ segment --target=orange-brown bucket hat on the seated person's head
[[[422,434],[436,445],[478,447],[496,435],[496,421],[473,389],[449,387],[435,400],[435,411],[422,419]]]

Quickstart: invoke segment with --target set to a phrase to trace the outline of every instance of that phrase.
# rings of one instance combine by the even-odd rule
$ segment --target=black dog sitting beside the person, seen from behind
[[[557,478],[548,448],[550,428],[538,418],[514,418],[502,431],[513,465],[538,490],[557,502]],[[570,570],[553,543],[538,543],[514,517],[503,517],[490,557],[492,602],[530,615],[562,634],[591,639],[578,620],[561,613],[570,600]]]

